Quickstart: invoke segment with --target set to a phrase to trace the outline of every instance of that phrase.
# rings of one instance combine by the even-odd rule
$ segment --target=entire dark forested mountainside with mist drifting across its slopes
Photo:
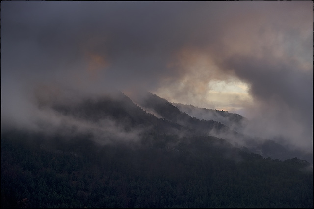
[[[143,107],[164,118],[121,94],[42,106],[58,125],[3,129],[1,207],[313,208],[311,163],[235,147],[204,131],[227,126],[152,96]]]

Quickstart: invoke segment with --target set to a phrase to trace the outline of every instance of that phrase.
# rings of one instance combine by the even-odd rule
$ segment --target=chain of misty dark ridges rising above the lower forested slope
[[[67,121],[72,129],[79,130],[83,126],[83,129],[91,133],[96,130],[99,140],[103,140],[101,138],[104,137],[115,140],[115,135],[121,136],[121,139],[123,137],[130,140],[134,137],[139,139],[145,132],[181,137],[215,136],[226,139],[235,147],[249,149],[266,158],[286,160],[298,157],[313,164],[311,154],[283,146],[272,139],[243,134],[241,130],[248,120],[239,114],[173,104],[150,92],[135,99],[119,91],[101,97],[84,97],[74,102],[64,103],[60,99],[55,99],[42,105],[39,100],[38,104],[42,109],[52,110],[66,118],[64,121]],[[202,117],[196,117],[200,115]],[[80,121],[80,125],[76,120]],[[87,126],[89,128],[86,128]],[[119,133],[116,134],[117,132]]]

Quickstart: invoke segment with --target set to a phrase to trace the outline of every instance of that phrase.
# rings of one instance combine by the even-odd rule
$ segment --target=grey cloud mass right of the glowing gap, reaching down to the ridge
[[[267,138],[282,135],[292,138],[294,145],[311,149],[313,71],[302,71],[294,62],[253,57],[235,56],[225,65],[251,84],[256,102],[246,112],[254,121],[250,133]]]

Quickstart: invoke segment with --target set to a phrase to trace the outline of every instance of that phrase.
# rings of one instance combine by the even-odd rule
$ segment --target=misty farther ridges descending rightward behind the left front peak
[[[263,157],[286,160],[291,157],[306,159],[313,164],[313,154],[295,148],[293,145],[280,144],[283,139],[262,139],[242,133],[249,121],[235,113],[222,110],[197,108],[192,105],[172,104],[156,94],[147,93],[138,102],[146,110],[160,117],[191,128],[196,135],[210,135],[223,138],[236,147],[246,147]]]

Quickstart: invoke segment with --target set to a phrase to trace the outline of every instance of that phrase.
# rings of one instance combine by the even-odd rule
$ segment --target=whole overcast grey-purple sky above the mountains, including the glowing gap
[[[1,123],[62,88],[150,91],[313,149],[313,1],[1,1]]]

